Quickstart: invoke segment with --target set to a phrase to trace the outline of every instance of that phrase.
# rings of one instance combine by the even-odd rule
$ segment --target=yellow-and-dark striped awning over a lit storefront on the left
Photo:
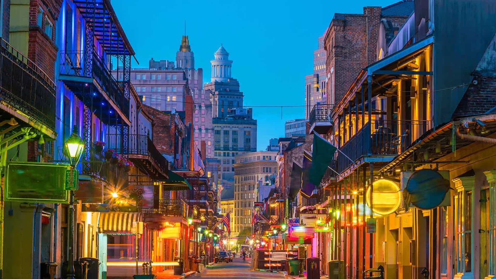
[[[98,221],[100,233],[133,234],[133,222],[141,222],[140,212],[101,212]]]

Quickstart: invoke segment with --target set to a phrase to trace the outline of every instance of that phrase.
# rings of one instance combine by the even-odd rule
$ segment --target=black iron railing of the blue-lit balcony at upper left
[[[84,52],[83,51],[61,51],[60,52],[60,74],[91,77],[96,80],[99,86],[106,92],[108,97],[114,101],[119,109],[127,117],[129,116],[129,100],[124,96],[124,89],[107,69],[107,65],[100,56],[93,52],[91,57],[91,73],[84,71]]]

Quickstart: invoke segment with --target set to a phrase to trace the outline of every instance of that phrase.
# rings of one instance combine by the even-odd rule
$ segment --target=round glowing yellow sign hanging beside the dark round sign
[[[373,212],[388,215],[396,211],[401,204],[401,191],[398,184],[386,179],[373,182]],[[365,193],[366,202],[371,207],[371,187]]]

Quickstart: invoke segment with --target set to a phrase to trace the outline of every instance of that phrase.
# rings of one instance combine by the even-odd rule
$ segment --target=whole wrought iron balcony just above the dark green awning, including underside
[[[169,161],[160,154],[148,135],[129,135],[127,139],[129,159],[156,179],[167,179]],[[124,152],[121,134],[107,135],[107,149],[114,149],[118,154]]]

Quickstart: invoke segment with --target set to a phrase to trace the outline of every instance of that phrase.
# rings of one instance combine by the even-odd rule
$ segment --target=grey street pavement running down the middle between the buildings
[[[243,279],[266,279],[266,278],[284,278],[280,273],[268,273],[250,270],[250,259],[246,263],[243,259],[236,258],[234,262],[218,263],[210,266],[199,274],[191,275],[188,278],[243,278]]]

